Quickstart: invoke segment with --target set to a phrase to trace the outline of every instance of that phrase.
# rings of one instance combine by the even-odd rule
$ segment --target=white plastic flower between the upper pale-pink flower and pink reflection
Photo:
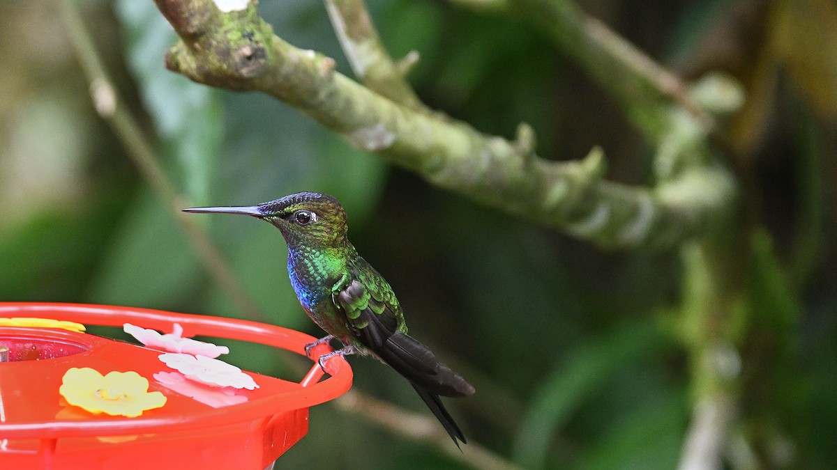
[[[231,386],[253,390],[259,388],[253,377],[245,374],[238,367],[223,360],[212,359],[205,355],[165,353],[158,356],[166,365],[177,370],[187,379],[209,386]]]

